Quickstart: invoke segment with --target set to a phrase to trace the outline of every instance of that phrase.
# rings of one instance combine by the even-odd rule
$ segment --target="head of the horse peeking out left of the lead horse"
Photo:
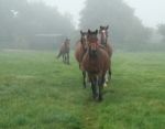
[[[88,45],[87,45],[87,35],[88,35],[88,33],[87,33],[87,32],[82,32],[82,31],[80,30],[80,35],[81,35],[81,36],[80,36],[80,43],[81,43],[84,50],[86,51],[87,47],[88,47]]]

